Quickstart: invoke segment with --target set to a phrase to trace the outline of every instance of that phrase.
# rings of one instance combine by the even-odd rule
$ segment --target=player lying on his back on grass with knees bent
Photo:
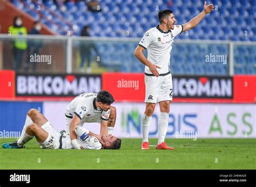
[[[113,135],[97,135],[83,127],[76,127],[79,149],[120,149],[121,139]],[[73,149],[70,134],[58,133],[50,122],[36,109],[26,116],[21,137],[12,143],[3,143],[3,148],[24,148],[33,136],[44,149]]]

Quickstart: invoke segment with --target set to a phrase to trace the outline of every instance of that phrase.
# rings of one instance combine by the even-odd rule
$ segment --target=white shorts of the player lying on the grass
[[[42,149],[59,149],[59,138],[60,133],[58,133],[47,121],[41,126],[44,131],[48,132],[48,138],[43,143],[38,143]]]

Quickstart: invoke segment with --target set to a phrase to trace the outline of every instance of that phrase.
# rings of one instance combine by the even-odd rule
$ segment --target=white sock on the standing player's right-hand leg
[[[160,112],[159,120],[158,120],[158,145],[161,142],[164,142],[167,128],[169,124],[169,113],[168,112]]]

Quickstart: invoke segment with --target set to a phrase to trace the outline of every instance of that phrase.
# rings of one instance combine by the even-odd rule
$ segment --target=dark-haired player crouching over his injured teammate
[[[77,143],[76,127],[84,123],[99,123],[100,135],[112,134],[116,123],[116,108],[111,106],[113,96],[106,90],[98,93],[82,93],[74,98],[66,107],[65,120],[67,132],[70,133],[72,146],[79,149]]]

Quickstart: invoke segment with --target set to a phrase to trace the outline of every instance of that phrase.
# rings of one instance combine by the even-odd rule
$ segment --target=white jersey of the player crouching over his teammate
[[[110,109],[103,111],[96,106],[96,93],[82,93],[74,98],[66,107],[65,116],[72,119],[76,115],[81,121],[78,126],[84,123],[99,123],[100,120],[107,121],[110,116]]]

